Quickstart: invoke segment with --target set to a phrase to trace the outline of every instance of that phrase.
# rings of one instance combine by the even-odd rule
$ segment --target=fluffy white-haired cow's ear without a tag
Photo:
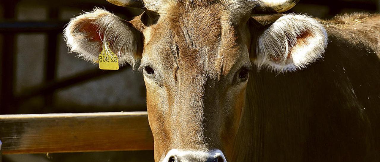
[[[257,37],[255,64],[275,72],[295,71],[322,58],[327,34],[321,23],[309,16],[281,16]]]

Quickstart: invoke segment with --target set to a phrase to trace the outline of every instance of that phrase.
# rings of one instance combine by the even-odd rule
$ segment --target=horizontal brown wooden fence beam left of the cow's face
[[[3,154],[153,150],[147,112],[0,115]]]

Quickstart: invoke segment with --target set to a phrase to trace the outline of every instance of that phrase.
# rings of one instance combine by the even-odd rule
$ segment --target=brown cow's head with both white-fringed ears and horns
[[[120,65],[141,62],[160,162],[225,162],[239,140],[251,64],[294,71],[326,46],[325,30],[310,17],[289,14],[268,25],[251,18],[287,11],[293,1],[109,1],[145,12],[130,22],[98,8],[82,14],[65,29],[67,44],[93,61],[109,42]]]

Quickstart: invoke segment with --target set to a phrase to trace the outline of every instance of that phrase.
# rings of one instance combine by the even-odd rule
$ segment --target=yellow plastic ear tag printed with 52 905
[[[109,49],[109,43],[103,43],[103,49],[99,55],[99,69],[102,70],[119,70],[119,61],[115,53]]]

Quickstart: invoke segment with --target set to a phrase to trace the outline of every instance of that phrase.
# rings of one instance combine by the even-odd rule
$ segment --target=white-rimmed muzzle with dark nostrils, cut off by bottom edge
[[[226,162],[222,151],[196,151],[172,149],[162,162]]]

